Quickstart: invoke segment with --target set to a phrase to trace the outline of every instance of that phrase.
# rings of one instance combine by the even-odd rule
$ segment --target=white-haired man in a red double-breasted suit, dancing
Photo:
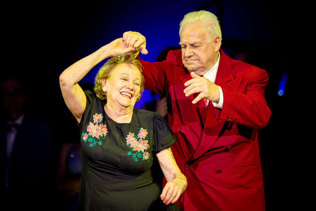
[[[264,99],[266,71],[229,58],[217,17],[191,12],[180,23],[181,50],[166,61],[141,61],[145,89],[167,96],[178,140],[174,157],[188,180],[184,210],[264,210],[258,129],[271,112]],[[125,32],[127,47],[146,54],[145,38]]]

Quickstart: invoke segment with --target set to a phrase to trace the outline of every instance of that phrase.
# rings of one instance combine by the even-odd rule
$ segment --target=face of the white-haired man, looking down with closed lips
[[[215,65],[220,48],[219,37],[209,43],[201,23],[186,24],[181,30],[179,44],[182,62],[189,71],[202,76]]]

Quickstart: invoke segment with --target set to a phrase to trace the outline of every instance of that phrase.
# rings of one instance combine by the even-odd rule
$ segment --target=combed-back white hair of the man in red
[[[203,28],[206,33],[206,39],[209,43],[211,43],[216,36],[219,36],[222,44],[222,31],[218,19],[213,13],[205,10],[190,12],[186,14],[183,17],[183,20],[180,22],[179,35],[181,34],[182,28],[186,24],[196,22],[200,22],[203,24]]]

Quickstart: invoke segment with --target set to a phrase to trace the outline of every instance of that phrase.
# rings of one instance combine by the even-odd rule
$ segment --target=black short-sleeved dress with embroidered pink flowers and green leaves
[[[86,109],[79,123],[82,174],[79,210],[174,210],[159,197],[161,186],[151,171],[155,153],[175,139],[155,112],[133,110],[130,123],[109,118],[106,101],[85,91]]]

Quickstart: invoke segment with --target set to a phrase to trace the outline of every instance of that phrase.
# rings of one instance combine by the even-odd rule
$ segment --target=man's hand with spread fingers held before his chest
[[[190,96],[194,93],[200,93],[192,103],[195,104],[202,98],[206,98],[209,101],[219,101],[219,88],[216,84],[210,82],[209,79],[201,77],[194,72],[191,72],[191,80],[185,82],[184,89],[185,96]]]

